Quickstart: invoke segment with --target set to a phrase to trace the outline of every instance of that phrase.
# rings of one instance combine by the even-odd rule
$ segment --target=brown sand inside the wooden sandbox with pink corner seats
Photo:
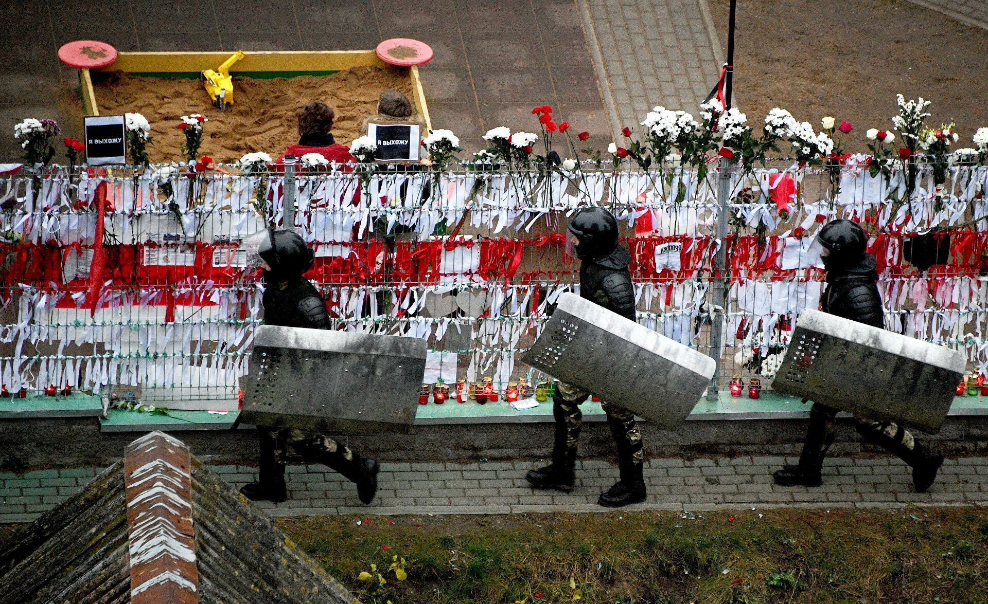
[[[235,161],[244,153],[266,151],[278,157],[298,142],[296,112],[309,101],[336,111],[333,135],[349,145],[361,122],[376,113],[377,98],[397,90],[412,98],[407,69],[353,67],[329,76],[233,78],[234,105],[220,112],[209,102],[200,80],[136,77],[123,72],[94,72],[93,88],[100,113],[142,113],[151,123],[151,160],[179,161],[185,135],[179,117],[203,113],[209,118],[200,156]]]

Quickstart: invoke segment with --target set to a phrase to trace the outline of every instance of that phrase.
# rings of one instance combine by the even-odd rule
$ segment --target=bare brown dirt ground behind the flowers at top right
[[[728,0],[709,0],[727,48]],[[735,38],[738,107],[759,125],[782,107],[819,128],[846,119],[850,150],[864,131],[891,127],[895,94],[933,101],[928,122],[955,121],[956,147],[988,125],[988,32],[897,0],[745,0]]]

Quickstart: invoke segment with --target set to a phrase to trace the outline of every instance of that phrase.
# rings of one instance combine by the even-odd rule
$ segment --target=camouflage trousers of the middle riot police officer
[[[583,425],[580,404],[589,397],[589,393],[571,384],[556,384],[555,394],[552,396],[552,416],[556,425],[553,459],[557,456],[559,459],[576,458],[580,428]],[[611,403],[602,403],[601,407],[608,417],[608,426],[617,444],[621,480],[640,478],[644,455],[641,431],[634,420],[634,414]]]

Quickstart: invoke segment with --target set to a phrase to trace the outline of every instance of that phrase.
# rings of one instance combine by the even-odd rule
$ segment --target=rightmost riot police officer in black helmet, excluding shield
[[[851,220],[833,220],[820,229],[817,240],[823,248],[821,256],[827,271],[827,288],[823,292],[821,310],[884,328],[881,296],[875,285],[878,280],[876,263],[873,256],[865,253],[867,236],[861,225]],[[777,471],[773,475],[777,484],[786,487],[820,486],[823,458],[834,442],[837,411],[826,405],[813,404],[799,464]],[[912,467],[913,485],[917,492],[930,489],[944,463],[943,453],[917,442],[909,430],[893,421],[855,417],[855,422],[864,440],[884,447]]]

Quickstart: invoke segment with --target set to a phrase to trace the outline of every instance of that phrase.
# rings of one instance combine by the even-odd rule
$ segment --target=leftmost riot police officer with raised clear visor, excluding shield
[[[264,268],[264,322],[295,328],[329,329],[329,315],[319,291],[302,276],[312,264],[312,250],[291,230],[269,229],[244,240],[249,264]],[[329,436],[299,429],[258,427],[261,440],[259,480],[240,490],[249,499],[284,501],[285,464],[290,446],[303,459],[329,466],[357,485],[361,501],[377,491],[380,464]]]

